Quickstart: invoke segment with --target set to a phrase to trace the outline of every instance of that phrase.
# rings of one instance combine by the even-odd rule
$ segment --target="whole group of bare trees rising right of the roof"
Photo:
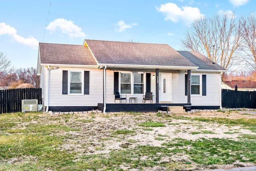
[[[256,71],[255,14],[198,18],[181,42],[185,50],[200,52],[231,73]]]

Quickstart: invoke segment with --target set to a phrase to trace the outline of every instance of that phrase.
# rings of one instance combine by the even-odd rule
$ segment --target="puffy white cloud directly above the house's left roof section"
[[[55,32],[60,30],[62,34],[67,34],[70,38],[85,38],[86,35],[82,32],[82,28],[76,26],[74,22],[68,21],[64,18],[58,18],[46,27],[46,30]]]

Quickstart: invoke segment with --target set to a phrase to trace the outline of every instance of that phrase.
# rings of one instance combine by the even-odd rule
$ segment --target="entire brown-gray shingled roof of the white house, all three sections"
[[[88,47],[39,43],[41,64],[62,65],[142,65],[196,67],[201,70],[225,70],[199,52],[176,51],[167,44],[146,44],[85,40]],[[96,58],[96,60],[94,59]]]

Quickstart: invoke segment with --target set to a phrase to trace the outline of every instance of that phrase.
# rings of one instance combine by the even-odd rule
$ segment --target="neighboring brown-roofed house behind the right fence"
[[[252,80],[226,80],[222,82],[222,89],[238,91],[256,91],[256,82]]]

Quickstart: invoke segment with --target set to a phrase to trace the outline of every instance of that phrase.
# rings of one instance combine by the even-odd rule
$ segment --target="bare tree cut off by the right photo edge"
[[[242,46],[243,61],[248,63],[256,70],[256,17],[250,14],[247,18],[240,19],[242,27],[242,37],[244,44]]]

